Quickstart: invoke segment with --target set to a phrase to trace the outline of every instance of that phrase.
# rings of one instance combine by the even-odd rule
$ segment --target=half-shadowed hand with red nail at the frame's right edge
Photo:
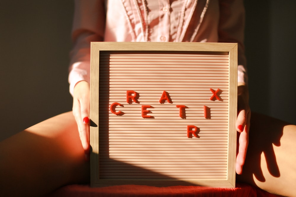
[[[237,87],[237,121],[236,129],[237,141],[237,160],[235,170],[237,174],[242,174],[244,160],[247,154],[249,144],[249,129],[250,129],[251,110],[249,106],[249,90],[246,85]]]

